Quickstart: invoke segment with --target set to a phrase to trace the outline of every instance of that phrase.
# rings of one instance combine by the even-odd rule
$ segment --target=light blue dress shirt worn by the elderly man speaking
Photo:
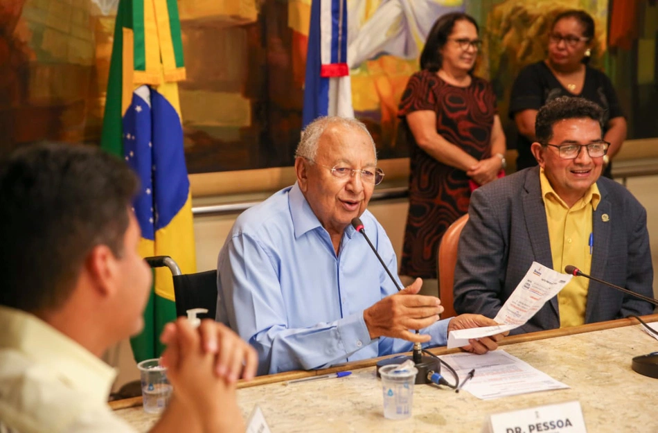
[[[369,211],[361,219],[397,278],[397,259],[384,229]],[[217,320],[256,348],[258,374],[411,350],[411,342],[402,339],[370,338],[364,310],[398,289],[352,226],[336,256],[297,184],[238,217],[217,270]],[[432,335],[428,346],[445,345],[448,321],[423,330]]]

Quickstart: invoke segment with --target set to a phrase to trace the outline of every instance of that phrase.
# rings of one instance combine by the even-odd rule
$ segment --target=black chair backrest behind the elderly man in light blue
[[[185,316],[190,308],[206,308],[200,319],[215,319],[217,310],[217,269],[196,274],[175,275],[176,315]]]

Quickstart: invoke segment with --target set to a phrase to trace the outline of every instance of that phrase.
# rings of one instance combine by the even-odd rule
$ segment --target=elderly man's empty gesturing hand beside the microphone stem
[[[416,279],[400,292],[364,310],[364,321],[371,338],[383,336],[429,342],[429,335],[416,335],[410,330],[432,325],[443,312],[443,307],[438,298],[418,294],[422,285],[423,280]]]

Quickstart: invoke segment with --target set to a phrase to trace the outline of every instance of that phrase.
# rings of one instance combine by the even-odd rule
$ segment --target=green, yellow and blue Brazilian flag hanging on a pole
[[[121,0],[107,84],[101,146],[141,179],[134,211],[140,254],[171,256],[195,272],[190,182],[183,151],[177,82],[185,80],[176,0]],[[163,326],[176,317],[169,269],[154,272],[143,332],[131,341],[139,362],[159,357]]]

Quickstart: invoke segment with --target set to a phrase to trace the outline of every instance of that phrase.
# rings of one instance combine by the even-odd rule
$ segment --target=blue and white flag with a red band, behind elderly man
[[[303,127],[319,116],[354,116],[347,64],[347,15],[347,0],[313,0]]]

